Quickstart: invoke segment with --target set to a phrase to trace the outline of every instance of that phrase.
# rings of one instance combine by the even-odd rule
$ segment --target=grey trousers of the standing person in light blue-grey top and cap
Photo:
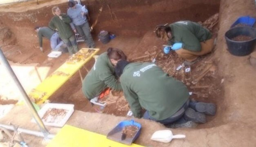
[[[81,35],[81,37],[85,40],[85,43],[87,43],[88,48],[95,48],[95,44],[91,37],[91,31],[88,22],[85,22],[82,25],[76,25],[76,30],[78,34]]]

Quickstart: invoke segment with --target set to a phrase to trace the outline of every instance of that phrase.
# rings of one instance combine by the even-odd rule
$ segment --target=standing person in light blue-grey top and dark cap
[[[94,41],[91,37],[91,31],[89,23],[86,19],[88,10],[85,6],[76,4],[73,0],[68,2],[69,9],[67,10],[67,15],[72,19],[73,24],[76,26],[77,32],[85,39],[88,48],[95,48]]]

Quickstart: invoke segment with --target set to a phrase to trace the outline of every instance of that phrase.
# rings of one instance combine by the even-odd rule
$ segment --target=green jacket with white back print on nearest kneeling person
[[[154,63],[130,63],[120,82],[134,117],[142,117],[141,108],[156,120],[174,115],[189,98],[185,84],[169,77]]]

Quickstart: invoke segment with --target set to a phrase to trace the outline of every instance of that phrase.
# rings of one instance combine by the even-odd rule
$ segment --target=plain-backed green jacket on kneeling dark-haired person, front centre
[[[85,96],[92,99],[107,87],[116,91],[122,90],[120,82],[114,76],[114,71],[115,68],[111,64],[107,52],[98,56],[97,61],[82,82],[82,91]]]

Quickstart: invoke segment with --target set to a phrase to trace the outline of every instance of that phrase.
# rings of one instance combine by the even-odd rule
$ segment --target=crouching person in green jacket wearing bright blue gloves
[[[185,65],[194,64],[198,56],[211,52],[214,47],[211,32],[196,22],[180,21],[158,25],[154,32],[157,37],[168,41],[170,46],[165,46],[165,54],[175,50],[185,60]]]

